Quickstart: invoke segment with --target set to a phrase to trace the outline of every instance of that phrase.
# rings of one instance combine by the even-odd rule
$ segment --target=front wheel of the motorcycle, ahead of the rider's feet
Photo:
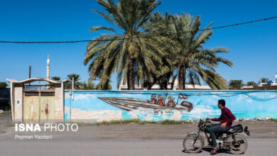
[[[197,153],[202,150],[202,147],[204,146],[202,137],[198,136],[197,140],[195,141],[196,137],[197,134],[189,134],[185,137],[183,141],[183,147],[185,148],[186,152]]]

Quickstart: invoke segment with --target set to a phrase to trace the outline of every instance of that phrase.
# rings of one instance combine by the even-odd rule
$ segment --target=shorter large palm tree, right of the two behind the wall
[[[232,67],[231,61],[217,56],[219,53],[229,52],[229,50],[226,48],[203,48],[203,44],[212,35],[212,30],[208,29],[212,23],[206,27],[207,30],[199,32],[200,16],[194,18],[186,13],[182,13],[181,16],[167,13],[165,17],[161,13],[155,13],[149,23],[150,27],[146,28],[148,33],[167,36],[171,40],[168,47],[174,47],[170,52],[175,56],[173,63],[175,70],[178,70],[179,89],[185,89],[186,78],[190,84],[194,85],[200,84],[200,77],[212,89],[227,88],[227,82],[215,72],[214,68],[219,62]],[[172,44],[175,46],[170,46]],[[172,67],[170,73],[171,75],[173,73]]]

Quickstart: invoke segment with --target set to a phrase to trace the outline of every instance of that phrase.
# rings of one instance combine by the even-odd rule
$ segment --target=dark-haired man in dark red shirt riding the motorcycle
[[[217,145],[217,140],[215,138],[215,133],[222,133],[224,131],[229,130],[232,127],[232,122],[236,119],[234,114],[229,110],[229,108],[225,107],[226,102],[224,99],[220,99],[218,101],[218,108],[221,109],[221,116],[219,118],[207,118],[207,120],[211,121],[220,121],[220,123],[214,123],[210,126],[210,129],[207,131],[210,133],[212,138],[212,151],[211,154],[214,154],[219,149],[219,145]]]

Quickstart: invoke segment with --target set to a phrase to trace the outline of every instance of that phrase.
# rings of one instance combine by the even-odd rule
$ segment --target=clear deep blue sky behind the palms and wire
[[[258,0],[161,0],[156,11],[200,15],[202,28],[214,21],[216,26],[241,23],[277,16],[277,1]],[[64,41],[91,40],[99,33],[89,33],[92,26],[110,26],[101,16],[96,0],[1,0],[0,40]],[[225,47],[223,55],[234,62],[233,67],[219,65],[217,72],[228,81],[242,79],[258,81],[273,79],[277,72],[277,19],[244,26],[214,30],[205,48]],[[82,82],[89,77],[82,64],[87,43],[75,44],[11,44],[0,43],[0,82],[27,79],[28,67],[32,77],[45,77],[46,59],[50,55],[50,76],[65,79],[67,74],[80,74]],[[112,77],[116,89],[115,76]]]

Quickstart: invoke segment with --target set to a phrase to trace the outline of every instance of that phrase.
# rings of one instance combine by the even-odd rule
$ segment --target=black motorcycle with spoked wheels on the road
[[[188,134],[183,141],[183,147],[186,152],[197,153],[202,150],[202,147],[205,145],[203,133],[206,136],[208,145],[212,147],[212,138],[210,138],[210,135],[207,135],[208,128],[210,128],[211,124],[212,122],[207,119],[204,121],[200,119],[197,123],[199,128],[198,133]],[[246,126],[243,128],[241,124],[232,126],[232,128],[223,133],[216,133],[217,145],[222,149],[229,150],[233,154],[245,152],[247,140],[244,135],[241,135],[242,132],[246,133],[246,135],[250,135],[248,127]]]

